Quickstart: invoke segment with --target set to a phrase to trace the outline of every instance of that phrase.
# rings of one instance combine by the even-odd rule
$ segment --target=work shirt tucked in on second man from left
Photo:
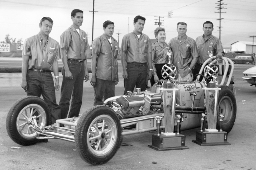
[[[80,34],[75,27],[71,25],[60,35],[60,49],[67,50],[67,58],[76,58],[85,60],[85,51],[89,49],[86,33],[80,30]],[[63,57],[63,56],[61,56]]]

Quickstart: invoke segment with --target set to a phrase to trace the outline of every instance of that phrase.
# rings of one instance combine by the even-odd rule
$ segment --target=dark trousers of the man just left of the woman
[[[133,92],[135,86],[136,88],[140,88],[142,92],[145,91],[148,75],[147,63],[127,63],[126,70],[128,78],[124,79],[124,94],[126,94],[127,91]]]

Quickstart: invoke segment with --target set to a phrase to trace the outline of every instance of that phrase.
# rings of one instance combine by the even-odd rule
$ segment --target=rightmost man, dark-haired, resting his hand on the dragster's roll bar
[[[212,35],[213,23],[211,21],[206,21],[203,23],[203,31],[204,34],[196,38],[200,57],[195,65],[193,72],[194,75],[199,73],[202,64],[209,58],[209,53],[213,52],[213,56],[216,56],[217,58],[222,58],[224,55],[221,40]],[[203,77],[201,76],[200,79],[202,78]]]

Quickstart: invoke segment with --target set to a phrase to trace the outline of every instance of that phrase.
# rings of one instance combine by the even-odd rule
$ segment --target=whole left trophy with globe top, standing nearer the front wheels
[[[152,145],[148,145],[148,147],[157,151],[188,149],[185,146],[185,136],[180,134],[179,130],[178,133],[174,133],[176,91],[178,89],[175,88],[175,81],[173,79],[177,74],[177,69],[171,63],[172,50],[167,50],[167,55],[169,56],[169,62],[162,67],[162,76],[168,81],[163,83],[163,88],[159,89],[163,100],[164,118],[155,117],[158,125],[157,129],[159,129],[161,120],[164,122],[165,128],[164,132],[161,133],[160,130],[157,130],[157,134],[152,135]],[[169,80],[172,80],[173,83]],[[177,121],[178,125],[180,118]]]

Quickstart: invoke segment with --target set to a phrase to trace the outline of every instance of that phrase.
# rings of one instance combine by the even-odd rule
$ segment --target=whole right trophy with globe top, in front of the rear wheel
[[[208,52],[211,58],[210,64],[205,66],[204,75],[207,79],[211,78],[211,81],[207,83],[207,87],[202,88],[205,92],[205,105],[206,114],[202,114],[201,118],[201,130],[196,131],[196,140],[192,140],[201,146],[209,145],[230,145],[227,142],[227,132],[216,129],[217,117],[218,117],[218,98],[219,90],[218,82],[215,80],[219,74],[218,67],[212,64],[213,52]],[[207,118],[208,128],[203,130],[204,118]],[[220,122],[223,121],[223,115],[220,115]]]

